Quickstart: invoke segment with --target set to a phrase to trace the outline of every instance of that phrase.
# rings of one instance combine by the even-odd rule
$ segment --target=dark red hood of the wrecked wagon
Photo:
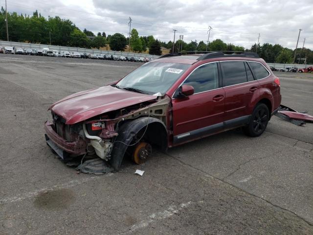
[[[156,96],[121,90],[112,86],[71,94],[50,106],[55,114],[74,124],[94,116],[156,99]]]

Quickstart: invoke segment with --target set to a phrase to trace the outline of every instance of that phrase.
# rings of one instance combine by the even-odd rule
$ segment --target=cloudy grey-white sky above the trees
[[[4,6],[4,0],[0,0]],[[313,49],[313,0],[7,0],[8,11],[45,17],[60,16],[71,20],[81,30],[127,36],[129,17],[139,35],[154,35],[161,41],[222,39],[243,47],[280,44],[294,49],[299,29],[298,47]]]

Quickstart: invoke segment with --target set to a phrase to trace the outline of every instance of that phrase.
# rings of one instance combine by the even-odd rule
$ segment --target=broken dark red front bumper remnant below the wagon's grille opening
[[[61,136],[59,136],[52,128],[51,123],[49,121],[45,122],[45,133],[46,133],[46,142],[47,144],[56,151],[53,147],[54,145],[61,149],[61,151],[66,151],[69,154],[74,155],[82,155],[86,153],[86,142],[81,139],[77,138],[73,142],[68,142],[64,140]],[[53,144],[51,144],[51,141]],[[57,152],[57,151],[56,151]],[[57,152],[58,153],[58,152]],[[60,156],[60,154],[58,153]],[[62,156],[60,156],[62,158]]]

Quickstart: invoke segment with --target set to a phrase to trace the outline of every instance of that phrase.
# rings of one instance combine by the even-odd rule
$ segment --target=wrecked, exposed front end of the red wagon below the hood
[[[67,124],[51,109],[53,122],[45,122],[45,139],[58,156],[82,172],[111,172],[118,170],[125,153],[132,155],[139,144],[167,148],[170,111],[167,95],[74,124]]]

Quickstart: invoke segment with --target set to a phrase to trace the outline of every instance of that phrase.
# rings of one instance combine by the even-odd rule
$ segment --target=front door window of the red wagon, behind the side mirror
[[[195,94],[219,88],[217,63],[200,66],[189,75],[183,85],[193,86]]]

